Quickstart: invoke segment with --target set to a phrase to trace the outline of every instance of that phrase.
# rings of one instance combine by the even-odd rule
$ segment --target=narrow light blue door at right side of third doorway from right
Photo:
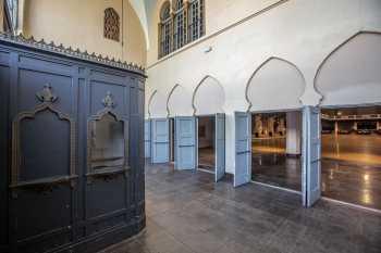
[[[216,181],[225,175],[225,114],[216,114]]]

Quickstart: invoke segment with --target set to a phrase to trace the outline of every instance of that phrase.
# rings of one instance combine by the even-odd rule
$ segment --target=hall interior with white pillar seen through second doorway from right
[[[251,116],[254,181],[302,191],[302,113]]]

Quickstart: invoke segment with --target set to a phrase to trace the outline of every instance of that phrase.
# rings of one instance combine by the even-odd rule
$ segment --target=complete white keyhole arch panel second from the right
[[[294,63],[271,56],[256,68],[246,84],[247,112],[302,107],[305,89],[306,79]]]

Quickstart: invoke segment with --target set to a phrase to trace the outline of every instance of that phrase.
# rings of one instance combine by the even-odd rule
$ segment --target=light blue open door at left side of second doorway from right
[[[251,180],[251,115],[235,112],[235,174],[234,187]]]

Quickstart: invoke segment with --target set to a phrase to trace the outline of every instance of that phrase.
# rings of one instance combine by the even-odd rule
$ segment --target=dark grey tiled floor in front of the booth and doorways
[[[147,228],[103,253],[380,253],[381,215],[146,165]]]

